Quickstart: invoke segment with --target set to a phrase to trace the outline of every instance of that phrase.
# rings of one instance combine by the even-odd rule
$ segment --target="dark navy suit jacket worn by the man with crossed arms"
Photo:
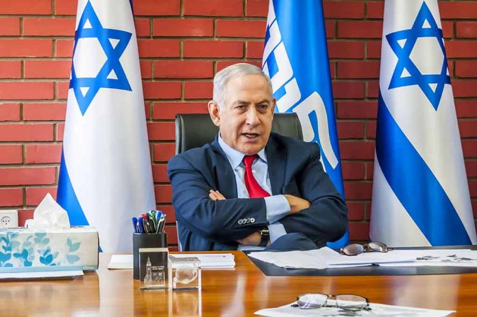
[[[304,233],[317,245],[339,239],[347,227],[347,208],[323,172],[319,146],[271,133],[265,152],[271,194],[291,194],[311,204],[280,220],[286,232]],[[167,174],[182,250],[236,250],[235,240],[267,226],[263,198],[237,198],[234,171],[217,136],[171,158]],[[227,199],[211,200],[210,189]],[[255,221],[239,221],[247,218]]]

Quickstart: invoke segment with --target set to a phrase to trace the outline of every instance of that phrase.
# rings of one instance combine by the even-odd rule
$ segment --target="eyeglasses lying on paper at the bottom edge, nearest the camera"
[[[334,305],[327,305],[328,298],[330,297],[334,297],[336,299]],[[369,300],[366,297],[354,294],[304,294],[297,296],[297,303],[293,304],[292,306],[299,307],[299,309],[338,307],[351,312],[371,310],[371,307],[369,307]]]

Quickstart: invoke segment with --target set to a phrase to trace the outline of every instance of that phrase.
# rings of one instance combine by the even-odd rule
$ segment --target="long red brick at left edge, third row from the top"
[[[0,57],[51,57],[51,39],[0,39]]]

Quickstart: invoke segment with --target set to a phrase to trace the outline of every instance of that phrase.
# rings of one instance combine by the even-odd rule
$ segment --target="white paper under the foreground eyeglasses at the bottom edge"
[[[321,307],[317,309],[299,309],[299,307],[291,307],[293,303],[277,308],[260,309],[255,312],[256,315],[269,317],[305,317],[305,316],[415,316],[415,317],[443,317],[453,314],[454,310],[437,310],[437,309],[422,309],[414,307],[382,305],[370,303],[370,311],[362,310],[353,314],[344,314],[343,309],[337,307]],[[328,305],[334,305],[334,301],[328,300]]]

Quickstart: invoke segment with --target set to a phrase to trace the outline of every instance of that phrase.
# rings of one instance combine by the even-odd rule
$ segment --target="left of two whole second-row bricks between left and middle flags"
[[[154,36],[212,36],[212,19],[154,19]]]

